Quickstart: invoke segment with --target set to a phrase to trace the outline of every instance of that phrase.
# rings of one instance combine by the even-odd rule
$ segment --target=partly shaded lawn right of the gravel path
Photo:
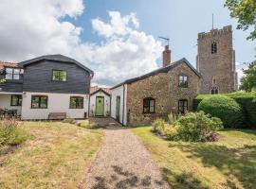
[[[165,141],[132,129],[173,188],[256,188],[256,130],[223,130],[215,143]]]

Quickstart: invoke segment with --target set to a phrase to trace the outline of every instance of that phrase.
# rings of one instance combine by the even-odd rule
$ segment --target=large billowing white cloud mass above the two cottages
[[[107,85],[156,68],[161,44],[137,30],[135,13],[122,16],[109,11],[109,22],[93,19],[93,29],[102,37],[101,44],[96,44],[83,43],[82,26],[64,21],[66,16],[78,18],[83,9],[82,0],[2,0],[0,59],[64,54],[94,70],[94,82]]]

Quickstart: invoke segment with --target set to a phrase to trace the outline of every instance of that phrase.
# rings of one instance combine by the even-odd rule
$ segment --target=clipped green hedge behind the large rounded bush
[[[206,97],[212,94],[198,94],[193,100],[193,110],[197,110],[198,104]],[[245,116],[244,128],[256,129],[256,93],[236,92],[232,94],[224,94],[233,98],[243,109]]]

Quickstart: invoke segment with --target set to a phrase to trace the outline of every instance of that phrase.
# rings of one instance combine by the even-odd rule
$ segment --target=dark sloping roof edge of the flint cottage
[[[125,80],[124,82],[121,82],[119,83],[118,85],[112,87],[111,89],[115,89],[123,84],[130,84],[130,83],[133,83],[137,80],[141,80],[141,79],[144,79],[144,78],[147,78],[147,77],[152,77],[152,76],[155,76],[159,73],[167,73],[169,72],[170,70],[174,69],[174,67],[176,67],[177,65],[179,65],[180,63],[186,63],[191,69],[192,71],[194,72],[194,74],[198,77],[201,77],[201,75],[199,74],[199,72],[197,72],[196,69],[194,69],[194,67],[192,66],[192,64],[189,62],[189,60],[186,60],[185,58],[181,59],[181,60],[177,60],[177,61],[174,61],[173,63],[171,63],[169,66],[166,66],[166,67],[161,67],[159,69],[156,69],[148,74],[145,74],[145,75],[142,75],[140,77],[134,77],[134,78],[129,78],[127,80]]]

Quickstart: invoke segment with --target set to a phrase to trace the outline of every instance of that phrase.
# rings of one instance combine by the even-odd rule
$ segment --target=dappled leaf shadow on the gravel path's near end
[[[160,186],[163,184],[163,180],[152,180],[150,176],[145,176],[144,178],[139,178],[135,173],[125,171],[122,167],[113,165],[113,173],[111,173],[110,179],[106,177],[95,177],[96,184],[92,189],[129,189],[129,188],[141,188],[150,187],[154,181],[156,185]]]

